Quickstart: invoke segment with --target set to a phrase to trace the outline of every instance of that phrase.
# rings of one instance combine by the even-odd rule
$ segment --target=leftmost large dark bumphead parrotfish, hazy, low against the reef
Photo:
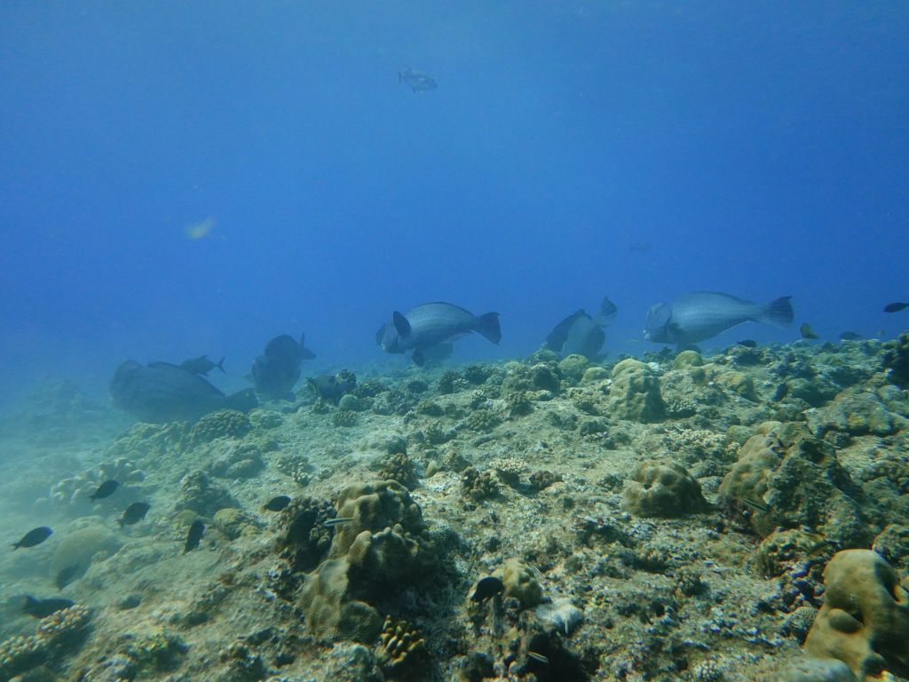
[[[151,424],[195,421],[220,409],[249,412],[258,405],[250,389],[225,396],[205,378],[181,366],[126,360],[117,367],[110,386],[115,406]]]

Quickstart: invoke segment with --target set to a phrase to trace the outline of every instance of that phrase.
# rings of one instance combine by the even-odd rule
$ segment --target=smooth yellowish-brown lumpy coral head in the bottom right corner
[[[824,606],[804,649],[837,658],[864,680],[909,675],[909,577],[870,549],[837,552],[824,569]]]

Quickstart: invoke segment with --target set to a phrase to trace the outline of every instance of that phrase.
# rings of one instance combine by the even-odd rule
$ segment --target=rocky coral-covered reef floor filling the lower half
[[[0,678],[909,680],[909,335],[314,384],[43,482]]]

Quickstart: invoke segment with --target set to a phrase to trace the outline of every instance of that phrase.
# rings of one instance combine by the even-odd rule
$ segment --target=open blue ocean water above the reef
[[[613,354],[700,289],[796,311],[706,346],[909,324],[903,4],[7,2],[0,84],[4,400],[301,331],[403,366],[432,300],[501,314],[456,360],[602,296]]]

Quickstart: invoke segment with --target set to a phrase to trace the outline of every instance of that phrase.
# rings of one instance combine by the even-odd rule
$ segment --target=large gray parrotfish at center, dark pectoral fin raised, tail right
[[[386,322],[375,335],[375,341],[385,353],[414,351],[414,362],[425,363],[425,351],[450,344],[454,339],[471,332],[485,336],[497,344],[502,339],[499,314],[474,315],[450,303],[425,303],[407,311],[395,310],[391,322]]]

